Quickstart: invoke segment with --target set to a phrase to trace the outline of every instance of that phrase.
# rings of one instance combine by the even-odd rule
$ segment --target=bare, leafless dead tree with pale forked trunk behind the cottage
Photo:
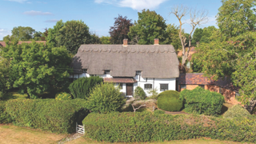
[[[207,12],[206,10],[193,10],[190,9],[190,26],[192,27],[192,30],[190,31],[190,35],[188,35],[188,49],[186,51],[186,35],[182,34],[182,25],[184,24],[182,22],[182,18],[184,18],[187,14],[188,8],[185,6],[175,6],[172,8],[170,14],[174,14],[176,18],[178,18],[179,22],[179,38],[182,43],[182,67],[185,68],[186,60],[190,53],[190,47],[191,47],[191,35],[196,28],[196,26],[200,26],[203,22],[206,22],[208,20],[207,18]]]

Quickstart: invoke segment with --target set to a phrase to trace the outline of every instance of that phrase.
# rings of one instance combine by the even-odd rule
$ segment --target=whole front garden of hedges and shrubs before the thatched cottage
[[[31,99],[15,94],[2,96],[0,122],[73,134],[78,122],[85,138],[98,142],[166,142],[211,138],[256,142],[256,117],[240,105],[222,114],[222,94],[197,87],[146,94],[139,86],[134,100],[126,98],[113,83],[102,78],[78,78],[55,98]],[[152,104],[153,103],[153,104]],[[165,114],[165,111],[186,114]]]

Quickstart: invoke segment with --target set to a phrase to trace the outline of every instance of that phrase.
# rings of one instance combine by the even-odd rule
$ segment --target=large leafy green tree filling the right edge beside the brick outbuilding
[[[209,44],[200,44],[194,58],[206,76],[232,78],[242,95],[238,100],[252,110],[256,100],[255,54],[256,13],[254,0],[223,0],[218,12],[219,30]],[[225,16],[225,18],[224,18]]]

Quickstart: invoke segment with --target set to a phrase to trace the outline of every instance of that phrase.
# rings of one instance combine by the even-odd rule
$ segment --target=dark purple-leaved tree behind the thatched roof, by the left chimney
[[[128,38],[128,32],[130,26],[133,26],[131,19],[118,15],[118,18],[114,18],[114,26],[110,26],[110,41],[114,44],[122,44],[124,38]]]

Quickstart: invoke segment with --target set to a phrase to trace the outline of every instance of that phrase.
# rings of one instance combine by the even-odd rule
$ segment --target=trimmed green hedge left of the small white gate
[[[6,102],[6,112],[18,126],[30,126],[57,133],[74,133],[76,122],[88,114],[85,100],[23,99]]]

